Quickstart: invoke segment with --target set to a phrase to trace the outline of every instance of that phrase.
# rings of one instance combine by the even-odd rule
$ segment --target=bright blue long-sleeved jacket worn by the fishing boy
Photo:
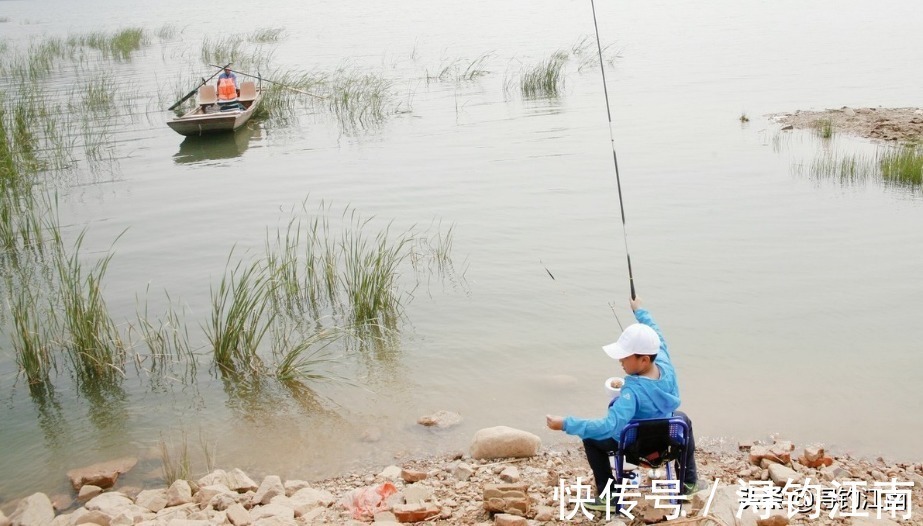
[[[585,420],[568,416],[564,418],[564,432],[580,438],[618,441],[622,429],[629,421],[636,418],[665,418],[673,416],[679,407],[679,386],[676,383],[676,371],[670,361],[667,342],[663,339],[660,327],[645,309],[635,311],[638,323],[650,326],[660,336],[660,351],[654,365],[660,368],[660,379],[631,374],[625,377],[621,395],[609,406],[606,416]]]

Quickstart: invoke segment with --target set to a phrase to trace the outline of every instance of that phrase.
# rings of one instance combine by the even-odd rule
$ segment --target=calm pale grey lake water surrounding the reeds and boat
[[[825,150],[874,146],[780,133],[765,117],[919,104],[923,4],[597,9],[635,283],[664,329],[696,434],[780,433],[923,460],[923,194],[813,178],[799,166]],[[195,333],[232,247],[259,253],[267,229],[305,199],[397,229],[454,225],[463,273],[423,279],[399,351],[344,362],[350,383],[317,387],[323,410],[282,393],[248,400],[208,373],[207,357],[193,385],[129,375],[94,404],[62,376],[38,402],[4,344],[0,501],[63,491],[67,469],[122,454],[142,457],[129,480],[144,483],[159,467],[152,449],[183,433],[196,461],[201,435],[217,443],[219,465],[310,479],[465,449],[493,425],[555,443],[568,438],[544,428],[546,413],[602,415],[602,382],[621,371],[600,346],[620,332],[614,314],[623,325],[631,315],[599,68],[573,56],[594,38],[588,1],[168,0],[141,13],[130,2],[5,0],[0,20],[7,52],[46,36],[178,29],[114,66],[149,108],[111,130],[117,164],[60,190],[65,234],[86,226],[90,256],[112,246],[106,298],[117,320],[134,319],[149,287],[154,307],[161,291],[181,298]],[[352,133],[308,104],[285,126],[184,143],[164,124],[164,93],[211,74],[203,38],[260,28],[284,29],[266,47],[273,66],[381,74],[401,113]],[[561,96],[524,100],[518,73],[558,50],[572,55]],[[483,77],[427,80],[484,55]],[[462,424],[415,423],[440,409]]]

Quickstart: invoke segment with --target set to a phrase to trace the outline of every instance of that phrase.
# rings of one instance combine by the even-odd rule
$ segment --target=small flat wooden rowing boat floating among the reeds
[[[215,86],[204,85],[198,91],[198,104],[181,117],[167,121],[180,135],[205,135],[234,131],[243,126],[263,99],[263,92],[253,82],[240,83],[240,94],[233,101],[219,101]]]

